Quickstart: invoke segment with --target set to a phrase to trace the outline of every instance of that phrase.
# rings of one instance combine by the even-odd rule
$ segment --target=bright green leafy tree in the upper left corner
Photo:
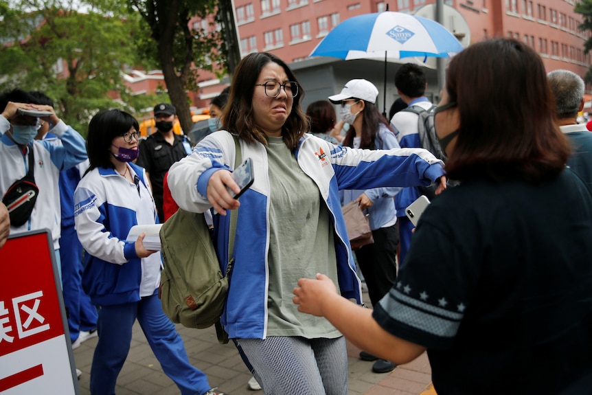
[[[139,18],[117,0],[17,0],[0,5],[0,90],[44,91],[67,124],[85,134],[99,109],[131,113],[154,98],[126,90],[122,70],[136,65],[130,43]]]

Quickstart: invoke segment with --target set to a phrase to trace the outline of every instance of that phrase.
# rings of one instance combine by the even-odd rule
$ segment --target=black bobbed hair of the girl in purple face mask
[[[115,137],[128,133],[132,127],[139,130],[135,117],[125,111],[112,109],[96,113],[89,123],[87,134],[87,153],[91,163],[87,172],[99,167],[115,168],[111,162],[111,142]]]

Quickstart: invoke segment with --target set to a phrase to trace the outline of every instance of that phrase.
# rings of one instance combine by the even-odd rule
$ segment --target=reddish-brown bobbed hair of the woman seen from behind
[[[451,179],[540,182],[565,167],[569,142],[556,126],[545,66],[527,45],[494,38],[452,58],[446,91],[460,127],[446,162]]]

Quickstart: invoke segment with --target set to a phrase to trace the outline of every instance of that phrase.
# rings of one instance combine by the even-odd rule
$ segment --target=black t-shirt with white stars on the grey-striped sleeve
[[[591,311],[592,196],[565,170],[438,196],[373,315],[426,346],[438,395],[558,394],[592,372]]]

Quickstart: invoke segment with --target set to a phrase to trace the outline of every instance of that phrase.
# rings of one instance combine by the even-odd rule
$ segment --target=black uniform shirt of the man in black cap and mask
[[[154,196],[160,221],[163,221],[162,194],[164,174],[176,161],[191,153],[189,139],[185,136],[174,135],[172,145],[168,144],[160,132],[154,133],[139,146],[137,165],[146,169],[150,174],[152,195]]]

